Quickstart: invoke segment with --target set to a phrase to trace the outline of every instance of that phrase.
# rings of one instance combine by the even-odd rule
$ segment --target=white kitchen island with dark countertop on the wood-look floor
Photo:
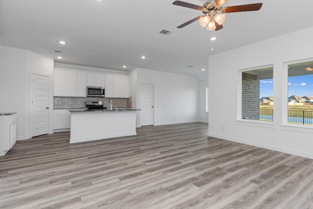
[[[136,110],[68,110],[70,143],[136,135]]]

